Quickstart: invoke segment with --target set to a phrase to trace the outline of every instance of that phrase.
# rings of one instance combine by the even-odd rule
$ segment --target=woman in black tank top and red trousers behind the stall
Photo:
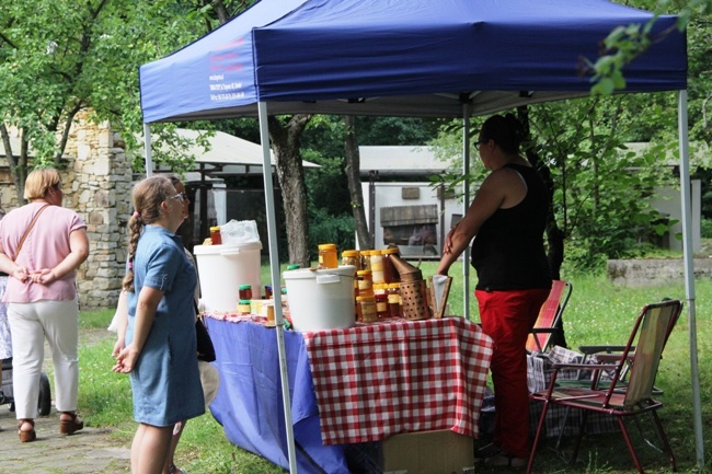
[[[472,242],[475,297],[482,331],[494,342],[494,442],[478,454],[489,465],[524,466],[529,455],[529,392],[525,343],[551,290],[543,245],[549,196],[543,181],[519,154],[521,124],[512,114],[490,117],[478,141],[491,173],[467,213],[449,233],[436,273]]]

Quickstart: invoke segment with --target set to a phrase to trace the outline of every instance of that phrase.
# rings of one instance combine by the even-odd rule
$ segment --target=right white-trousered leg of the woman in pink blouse
[[[76,412],[79,388],[77,300],[39,301],[36,304],[55,366],[55,405],[58,412]]]

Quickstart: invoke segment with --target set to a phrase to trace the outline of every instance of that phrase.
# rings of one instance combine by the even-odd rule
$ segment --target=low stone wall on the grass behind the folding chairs
[[[712,258],[694,258],[694,276],[712,278]],[[681,258],[608,261],[608,279],[631,287],[652,287],[685,281]]]

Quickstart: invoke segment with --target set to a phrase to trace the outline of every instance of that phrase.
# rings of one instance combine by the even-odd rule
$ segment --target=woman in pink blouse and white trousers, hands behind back
[[[0,221],[0,271],[10,278],[3,301],[12,333],[13,390],[20,441],[36,438],[45,338],[55,367],[59,432],[84,427],[77,416],[79,303],[77,268],[89,256],[87,224],[61,207],[57,170],[34,170],[25,181],[30,203]]]

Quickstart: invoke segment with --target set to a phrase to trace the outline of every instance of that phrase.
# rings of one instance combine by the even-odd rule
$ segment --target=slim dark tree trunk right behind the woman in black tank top
[[[531,143],[529,109],[526,105],[517,107],[517,117],[525,127],[525,135],[527,137],[526,141]],[[547,186],[547,190],[549,192],[549,211],[547,219],[547,243],[549,244],[549,254],[547,257],[549,259],[552,278],[559,280],[561,279],[561,264],[564,261],[564,233],[559,228],[554,216],[554,203],[552,198],[554,195],[554,183],[551,178],[551,170],[542,163],[533,147],[527,147],[525,152],[527,154],[527,160],[529,160],[529,162],[539,171],[539,174]]]

